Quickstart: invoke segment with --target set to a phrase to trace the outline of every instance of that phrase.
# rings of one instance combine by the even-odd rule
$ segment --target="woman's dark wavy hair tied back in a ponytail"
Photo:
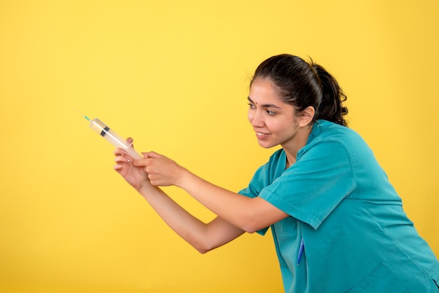
[[[346,95],[335,78],[313,60],[288,54],[269,57],[257,67],[250,86],[257,77],[270,79],[283,102],[292,104],[298,113],[312,106],[316,110],[313,122],[324,119],[347,126],[343,116],[348,109],[342,105]]]

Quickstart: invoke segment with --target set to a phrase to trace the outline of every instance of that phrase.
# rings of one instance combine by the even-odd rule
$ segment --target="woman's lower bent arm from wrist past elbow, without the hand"
[[[158,187],[145,186],[139,193],[163,221],[198,252],[208,252],[244,232],[219,218],[208,224],[201,222]]]

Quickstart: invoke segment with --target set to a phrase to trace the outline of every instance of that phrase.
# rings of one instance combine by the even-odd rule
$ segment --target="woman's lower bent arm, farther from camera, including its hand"
[[[184,210],[157,186],[149,183],[147,173],[142,167],[133,166],[133,159],[126,151],[116,149],[114,170],[133,186],[149,205],[157,212],[173,231],[192,245],[198,252],[205,253],[229,243],[241,236],[244,231],[216,217],[204,223]]]

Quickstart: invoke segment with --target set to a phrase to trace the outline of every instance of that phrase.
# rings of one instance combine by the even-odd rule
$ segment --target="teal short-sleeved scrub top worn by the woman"
[[[438,259],[360,135],[316,121],[285,166],[280,149],[240,191],[290,215],[271,226],[285,292],[439,292]]]

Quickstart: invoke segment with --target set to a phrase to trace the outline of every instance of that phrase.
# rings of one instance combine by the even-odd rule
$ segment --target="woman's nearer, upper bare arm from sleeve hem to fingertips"
[[[144,153],[145,158],[134,161],[144,167],[154,186],[178,186],[202,205],[234,226],[253,233],[288,217],[262,198],[248,198],[216,186],[154,152]]]

